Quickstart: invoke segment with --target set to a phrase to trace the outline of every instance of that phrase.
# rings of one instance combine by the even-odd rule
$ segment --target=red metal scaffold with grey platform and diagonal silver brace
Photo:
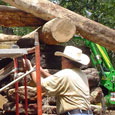
[[[35,52],[35,63],[36,66],[33,67],[30,71],[26,72],[26,67],[24,67],[24,74],[18,77],[18,57],[23,57],[26,60],[26,55],[29,53]],[[16,115],[19,115],[19,96],[18,96],[18,81],[24,78],[25,86],[25,115],[28,115],[28,100],[27,100],[27,81],[26,76],[31,72],[36,70],[37,76],[37,114],[42,115],[42,96],[41,96],[41,78],[40,78],[40,45],[39,45],[39,36],[38,33],[35,33],[35,48],[31,51],[25,48],[12,47],[11,49],[0,49],[0,57],[6,58],[10,57],[14,61],[14,80],[9,84],[5,85],[0,89],[0,92],[8,88],[9,86],[15,84],[15,93],[16,93]],[[11,73],[11,72],[10,72]],[[9,75],[9,74],[7,74]]]

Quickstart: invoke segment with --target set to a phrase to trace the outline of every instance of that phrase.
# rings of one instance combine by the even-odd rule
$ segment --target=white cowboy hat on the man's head
[[[66,46],[64,52],[56,51],[55,56],[63,56],[83,65],[87,65],[90,62],[89,57],[86,54],[83,54],[81,49],[74,46]]]

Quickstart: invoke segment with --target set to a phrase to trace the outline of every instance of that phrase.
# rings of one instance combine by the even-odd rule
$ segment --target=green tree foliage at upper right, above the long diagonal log
[[[115,29],[115,0],[59,0],[60,5]]]

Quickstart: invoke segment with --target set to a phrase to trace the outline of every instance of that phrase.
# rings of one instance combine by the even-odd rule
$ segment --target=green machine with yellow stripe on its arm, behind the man
[[[92,64],[99,71],[99,85],[104,93],[105,104],[107,107],[115,107],[115,69],[110,61],[107,50],[84,38],[77,36],[74,39],[82,39],[85,45],[90,48]]]

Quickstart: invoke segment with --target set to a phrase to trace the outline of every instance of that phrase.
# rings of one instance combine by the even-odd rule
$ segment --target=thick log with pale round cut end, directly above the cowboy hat
[[[40,39],[46,44],[68,42],[75,34],[75,25],[68,18],[55,18],[38,30]]]

